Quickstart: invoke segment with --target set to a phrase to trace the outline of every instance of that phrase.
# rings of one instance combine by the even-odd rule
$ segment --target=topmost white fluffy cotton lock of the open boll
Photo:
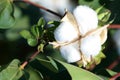
[[[88,31],[97,28],[97,13],[93,9],[87,6],[78,6],[75,8],[73,14],[79,25],[81,35],[85,35]]]

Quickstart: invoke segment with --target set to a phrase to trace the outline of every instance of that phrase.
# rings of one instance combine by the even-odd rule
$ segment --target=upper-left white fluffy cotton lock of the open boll
[[[78,37],[77,31],[70,22],[62,22],[54,31],[58,42],[70,42]]]

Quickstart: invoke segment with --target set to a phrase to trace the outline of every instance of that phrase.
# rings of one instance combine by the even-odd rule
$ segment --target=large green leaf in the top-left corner
[[[6,29],[14,25],[14,9],[11,0],[0,0],[0,28]]]

